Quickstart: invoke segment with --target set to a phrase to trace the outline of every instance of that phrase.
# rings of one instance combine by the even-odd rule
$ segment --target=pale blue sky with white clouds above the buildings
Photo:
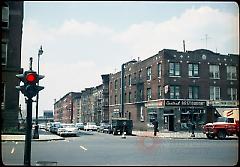
[[[132,59],[162,49],[239,54],[239,8],[232,1],[25,1],[21,66],[45,77],[39,116],[54,100],[102,83]],[[26,110],[24,96],[20,104]],[[33,104],[33,117],[35,117]]]

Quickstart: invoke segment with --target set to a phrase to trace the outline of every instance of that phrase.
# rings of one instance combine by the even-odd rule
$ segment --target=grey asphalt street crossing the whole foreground
[[[41,132],[42,133],[42,132]],[[81,131],[65,140],[32,142],[31,164],[58,166],[173,165],[232,166],[238,162],[238,139],[164,139]],[[24,142],[2,142],[2,161],[22,165]]]

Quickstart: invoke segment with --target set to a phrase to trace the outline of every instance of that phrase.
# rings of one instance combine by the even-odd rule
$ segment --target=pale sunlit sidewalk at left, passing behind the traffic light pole
[[[64,138],[57,135],[39,135],[39,139],[32,139],[32,141],[49,140],[64,140]],[[1,135],[1,141],[25,141],[25,135]]]

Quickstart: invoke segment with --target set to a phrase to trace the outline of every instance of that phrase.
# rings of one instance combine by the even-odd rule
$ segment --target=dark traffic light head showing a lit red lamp
[[[24,85],[16,86],[25,96],[32,98],[44,89],[43,86],[38,86],[39,80],[43,79],[43,75],[38,75],[35,71],[25,71],[23,74],[17,74],[17,78],[24,83]]]

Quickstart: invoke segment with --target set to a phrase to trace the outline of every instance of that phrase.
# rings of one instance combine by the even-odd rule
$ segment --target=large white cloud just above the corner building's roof
[[[205,34],[208,34],[207,48],[222,54],[239,53],[238,18],[210,7],[186,10],[181,16],[165,22],[143,22],[134,24],[113,40],[128,45],[133,54],[147,58],[164,48],[187,50],[205,48]],[[202,40],[201,40],[202,39]]]

